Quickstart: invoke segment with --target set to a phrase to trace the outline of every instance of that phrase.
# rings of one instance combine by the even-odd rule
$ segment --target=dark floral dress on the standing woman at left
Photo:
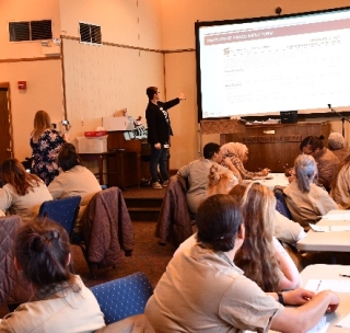
[[[55,129],[46,129],[37,142],[31,138],[33,149],[32,172],[48,185],[58,175],[57,154],[65,139]]]

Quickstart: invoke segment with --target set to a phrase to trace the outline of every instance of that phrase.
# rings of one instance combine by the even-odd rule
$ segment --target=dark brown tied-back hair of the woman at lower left
[[[70,283],[70,242],[63,227],[48,218],[35,218],[18,230],[15,257],[25,278],[37,289],[48,291]]]

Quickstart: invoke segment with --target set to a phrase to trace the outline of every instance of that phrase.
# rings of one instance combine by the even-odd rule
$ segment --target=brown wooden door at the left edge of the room
[[[0,83],[0,163],[13,157],[12,147],[10,84]]]

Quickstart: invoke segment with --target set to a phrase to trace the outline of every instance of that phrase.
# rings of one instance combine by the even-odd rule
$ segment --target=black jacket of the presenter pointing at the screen
[[[154,146],[160,142],[162,146],[168,143],[170,136],[173,135],[171,119],[167,110],[177,105],[179,99],[174,99],[168,102],[158,102],[155,105],[151,101],[145,110],[145,118],[148,125],[148,141]]]

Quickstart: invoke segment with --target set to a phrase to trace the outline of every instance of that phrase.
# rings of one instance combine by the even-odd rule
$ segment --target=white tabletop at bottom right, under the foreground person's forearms
[[[308,265],[302,273],[301,277],[303,280],[303,287],[307,284],[310,279],[330,279],[337,282],[349,282],[349,277],[339,276],[339,274],[350,275],[349,265]],[[314,290],[313,290],[314,291]],[[335,290],[336,291],[336,290]],[[325,314],[327,323],[329,322],[329,328],[327,332],[338,333],[338,332],[349,332],[349,329],[342,329],[336,326],[336,324],[350,313],[350,292],[338,292],[340,297],[340,303],[336,312]]]

